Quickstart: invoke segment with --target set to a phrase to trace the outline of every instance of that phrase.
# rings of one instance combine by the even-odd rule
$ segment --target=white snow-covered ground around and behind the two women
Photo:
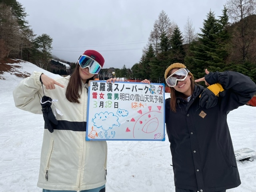
[[[18,72],[43,71],[28,62]],[[36,186],[44,120],[14,106],[12,90],[21,78],[0,74],[0,192],[41,192]],[[166,94],[166,98],[169,94]],[[256,150],[256,107],[242,106],[228,115],[234,149]],[[227,192],[256,192],[254,161],[238,161],[242,184]],[[108,141],[107,192],[174,192],[168,138],[166,141]]]

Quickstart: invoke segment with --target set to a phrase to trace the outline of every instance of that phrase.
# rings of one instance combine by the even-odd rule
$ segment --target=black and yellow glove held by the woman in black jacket
[[[218,96],[223,91],[224,89],[219,83],[208,86],[206,89],[204,89],[202,94],[199,96],[200,107],[205,106],[206,109],[209,109],[216,106],[216,104],[218,103]]]

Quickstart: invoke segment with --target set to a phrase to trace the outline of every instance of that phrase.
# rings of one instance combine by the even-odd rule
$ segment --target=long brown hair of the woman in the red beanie
[[[87,79],[86,83],[94,79],[95,79],[95,75],[92,78]],[[74,72],[70,76],[68,86],[66,89],[67,100],[74,103],[80,103],[78,99],[80,99],[81,97],[81,91],[82,91],[82,80],[79,74],[79,64],[77,64]]]

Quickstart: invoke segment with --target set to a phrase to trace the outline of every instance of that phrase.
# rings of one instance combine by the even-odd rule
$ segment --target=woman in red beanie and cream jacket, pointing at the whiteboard
[[[103,65],[99,52],[86,50],[70,76],[54,80],[33,72],[13,91],[16,107],[44,114],[37,184],[43,192],[105,192],[107,143],[85,140],[88,81],[95,79]],[[49,107],[52,99],[58,101]]]

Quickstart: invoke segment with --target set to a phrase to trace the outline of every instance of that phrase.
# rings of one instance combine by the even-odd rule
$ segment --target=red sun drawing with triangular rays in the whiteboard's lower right
[[[133,128],[133,137],[136,138],[136,136],[141,136],[142,134],[150,134],[151,138],[153,135],[158,134],[158,126],[159,126],[159,120],[158,118],[161,116],[162,113],[160,112],[161,106],[157,106],[158,110],[152,110],[152,106],[148,107],[149,112],[146,112],[142,114],[142,110],[138,110],[138,113],[141,114],[140,118],[138,120],[135,120],[134,118],[131,121],[136,121]],[[148,136],[146,136],[147,138]]]

